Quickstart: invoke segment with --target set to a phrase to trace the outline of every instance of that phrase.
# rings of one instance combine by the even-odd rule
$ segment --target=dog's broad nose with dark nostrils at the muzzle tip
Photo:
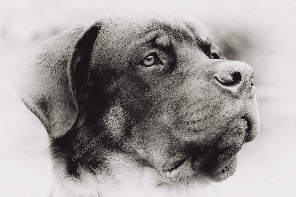
[[[228,89],[236,96],[254,95],[254,70],[249,64],[240,61],[221,62],[214,78],[221,88]]]

